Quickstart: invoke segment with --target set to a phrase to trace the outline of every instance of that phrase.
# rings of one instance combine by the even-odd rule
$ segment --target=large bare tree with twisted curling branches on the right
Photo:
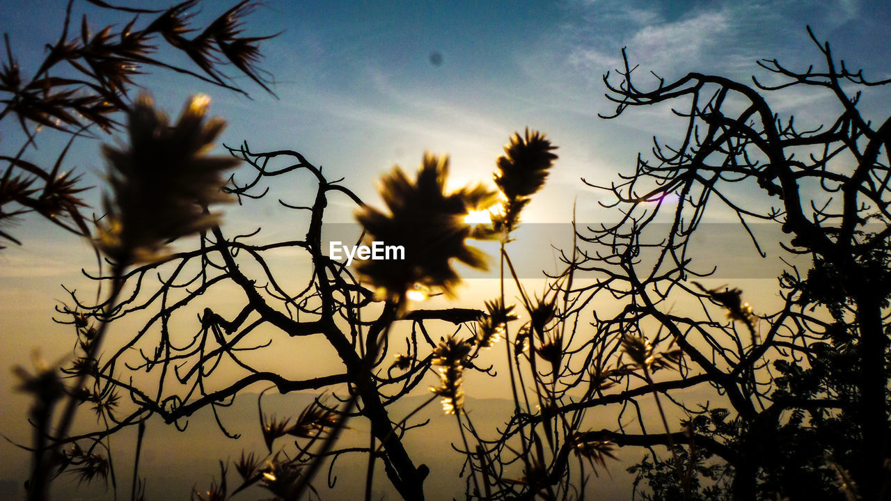
[[[469,451],[498,488],[491,498],[580,498],[583,459],[601,468],[616,446],[649,449],[633,471],[653,498],[887,496],[891,119],[858,106],[860,89],[891,80],[848,70],[810,34],[825,70],[762,61],[781,80],[772,86],[689,73],[643,88],[624,52],[618,78],[604,77],[617,105],[604,118],[672,103],[683,138],[657,141],[652,160],[597,186],[614,195],[618,222],[577,228],[567,271],[513,338],[526,378],[517,412]],[[797,128],[767,97],[789,87],[825,93],[838,116]],[[764,256],[755,224],[767,223],[788,235],[787,259],[810,261],[789,259],[780,300],[749,305],[739,289],[697,282],[715,267],[694,259],[692,239],[716,206],[753,252]],[[678,395],[694,387],[710,396]],[[614,415],[617,428],[590,430],[585,412]],[[505,474],[511,464],[519,480]]]

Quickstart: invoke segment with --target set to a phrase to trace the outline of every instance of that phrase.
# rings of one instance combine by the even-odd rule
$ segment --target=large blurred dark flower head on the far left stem
[[[225,127],[223,119],[205,121],[209,103],[206,95],[192,96],[170,126],[151,97],[141,94],[129,111],[129,146],[102,147],[111,195],[102,200],[105,218],[96,246],[110,259],[122,264],[159,259],[168,242],[217,222],[207,206],[230,200],[221,191],[221,173],[238,160],[208,156]]]

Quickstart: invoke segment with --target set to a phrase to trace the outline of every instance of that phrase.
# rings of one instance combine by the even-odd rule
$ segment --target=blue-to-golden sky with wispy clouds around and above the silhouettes
[[[76,11],[91,13],[94,30],[128,20],[97,15],[86,2],[75,5]],[[227,5],[205,2],[196,20],[213,19]],[[26,74],[36,69],[44,45],[58,37],[63,15],[64,3],[58,0],[0,5],[2,28]],[[598,118],[615,109],[603,97],[603,75],[620,67],[623,47],[632,64],[640,65],[636,74],[642,82],[650,71],[663,78],[699,71],[744,82],[757,74],[771,81],[756,61],[776,58],[797,70],[820,67],[821,54],[805,32],[810,25],[849,68],[863,68],[868,78],[891,76],[891,7],[878,1],[269,0],[245,21],[251,35],[281,32],[261,45],[266,57],[260,66],[274,79],[277,97],[247,78],[236,82],[251,99],[162,71],[137,83],[171,116],[190,94],[209,94],[212,114],[229,123],[222,142],[247,141],[254,151],[301,152],[323,166],[329,178],[344,177],[344,185],[372,204],[379,204],[376,179],[394,165],[416,168],[425,151],[450,155],[454,187],[490,182],[511,133],[525,127],[542,130],[560,147],[560,160],[525,220],[550,225],[566,224],[574,203],[579,221],[616,218],[598,205],[607,195],[580,178],[608,184],[617,173],[634,168],[637,152],[650,148],[652,136],[670,141],[678,134],[666,107]],[[887,116],[882,97],[867,94],[864,109]],[[820,123],[832,112],[825,96],[792,91],[769,99],[781,114],[794,112],[797,123]],[[17,140],[18,127],[9,119],[0,123],[4,154],[18,147]],[[94,204],[102,193],[104,170],[99,146],[115,141],[119,135],[78,141],[67,158],[67,168],[97,186],[86,195]],[[37,143],[39,150],[27,158],[49,162],[60,152],[62,139],[45,131]],[[291,203],[306,193],[300,181],[274,190],[275,197]],[[336,200],[329,221],[350,222],[353,209],[346,199]],[[290,212],[274,207],[225,211],[226,227],[233,231],[260,221],[268,238],[298,233],[299,222],[290,219]],[[720,212],[713,218],[710,222],[725,220]],[[14,365],[29,365],[37,345],[45,347],[49,359],[70,351],[72,343],[60,341],[69,333],[51,320],[53,307],[66,297],[61,283],[89,290],[79,269],[92,269],[93,257],[86,242],[37,218],[23,218],[12,231],[23,245],[0,251],[0,401],[6,402],[0,425],[11,430],[4,434],[23,437],[27,428],[11,409],[24,408],[26,400],[11,391],[8,374]],[[551,256],[550,242],[530,236],[520,243],[519,253]],[[0,456],[7,448],[0,446]]]

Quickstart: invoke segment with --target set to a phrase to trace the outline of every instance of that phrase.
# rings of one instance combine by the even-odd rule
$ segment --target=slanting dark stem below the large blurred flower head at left
[[[124,284],[125,267],[127,267],[125,263],[115,263],[111,268],[111,291],[109,292],[108,300],[106,300],[105,302],[105,308],[102,308],[102,324],[99,325],[99,329],[96,332],[93,341],[90,342],[90,349],[86,353],[87,363],[90,363],[93,360],[97,360],[96,355],[99,353],[99,347],[102,345],[102,339],[105,337],[105,331],[108,329],[108,325],[110,324],[109,317],[114,311],[121,287]],[[86,376],[87,371],[82,371],[80,374],[78,374],[78,379],[71,387],[72,393],[68,397],[68,403],[65,405],[65,410],[59,420],[59,426],[56,428],[55,432],[56,439],[53,441],[53,445],[49,448],[49,454],[45,454],[46,451],[44,451],[43,448],[35,449],[34,451],[34,474],[31,476],[30,492],[28,497],[29,501],[45,501],[45,499],[48,499],[47,488],[49,487],[48,479],[49,469],[51,466],[50,464],[48,464],[48,461],[50,461],[50,459],[59,452],[59,446],[61,445],[61,442],[64,441],[65,437],[68,435],[71,424],[74,423],[74,415],[78,411],[79,404],[78,399],[74,397],[74,391],[77,391],[84,386],[84,383],[86,382]]]

